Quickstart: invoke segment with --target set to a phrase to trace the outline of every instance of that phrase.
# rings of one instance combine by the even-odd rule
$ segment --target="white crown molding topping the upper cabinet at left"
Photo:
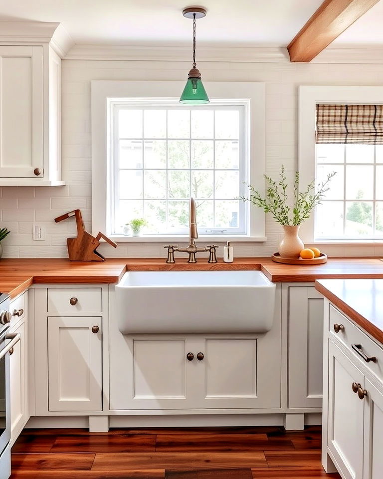
[[[0,21],[1,43],[49,43],[63,58],[74,41],[65,28],[56,22]]]

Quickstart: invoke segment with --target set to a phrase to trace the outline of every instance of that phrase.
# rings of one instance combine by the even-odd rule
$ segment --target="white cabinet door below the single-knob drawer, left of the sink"
[[[49,411],[101,411],[101,333],[101,317],[48,317]]]

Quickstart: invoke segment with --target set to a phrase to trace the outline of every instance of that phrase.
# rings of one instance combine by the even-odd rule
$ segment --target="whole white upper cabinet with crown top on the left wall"
[[[64,184],[58,26],[0,22],[0,186]]]

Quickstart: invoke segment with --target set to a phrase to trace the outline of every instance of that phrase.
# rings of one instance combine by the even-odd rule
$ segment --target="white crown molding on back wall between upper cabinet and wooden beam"
[[[74,45],[65,60],[190,61],[190,46]],[[199,46],[198,62],[289,62],[286,48]]]

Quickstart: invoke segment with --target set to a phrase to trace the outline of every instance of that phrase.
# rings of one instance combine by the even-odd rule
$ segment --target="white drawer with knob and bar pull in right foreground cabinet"
[[[383,349],[331,304],[329,318],[330,336],[345,344],[355,358],[360,360],[366,368],[383,380]],[[337,333],[334,329],[334,324],[343,325],[343,329],[340,329]],[[358,352],[352,348],[353,344],[360,344],[362,346],[360,351],[366,356],[375,356],[376,362],[365,361]]]

